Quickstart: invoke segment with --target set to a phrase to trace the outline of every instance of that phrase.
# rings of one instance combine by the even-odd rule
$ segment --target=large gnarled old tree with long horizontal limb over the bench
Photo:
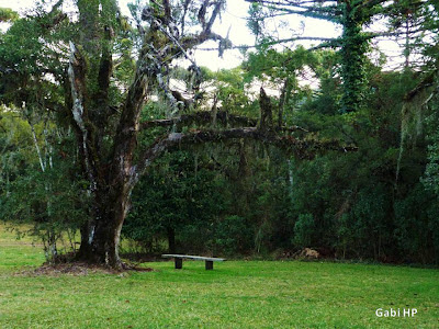
[[[222,138],[223,134],[175,133],[159,139],[135,159],[140,112],[154,88],[165,91],[170,113],[178,111],[178,101],[165,81],[169,60],[189,58],[189,49],[207,39],[223,39],[212,32],[212,25],[224,1],[185,1],[182,7],[177,3],[150,1],[142,10],[140,18],[147,26],[139,26],[142,45],[136,69],[126,97],[117,106],[120,116],[113,123],[115,132],[109,131],[109,111],[116,5],[110,0],[77,3],[82,48],[70,42],[68,75],[83,171],[94,198],[93,216],[81,230],[80,257],[87,260],[121,266],[117,248],[122,225],[130,211],[130,195],[155,158],[180,143]],[[196,14],[201,25],[196,34],[184,30],[187,14]]]

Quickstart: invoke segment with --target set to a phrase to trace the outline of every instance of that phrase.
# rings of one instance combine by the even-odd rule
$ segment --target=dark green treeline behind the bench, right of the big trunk
[[[405,126],[416,117],[402,112],[416,73],[371,68],[368,105],[349,116],[337,112],[340,91],[329,80],[292,100],[285,120],[322,138],[345,135],[357,151],[296,159],[243,140],[180,150],[134,191],[124,236],[156,252],[267,256],[311,247],[339,259],[437,262],[438,198],[426,177],[435,106],[421,128]]]

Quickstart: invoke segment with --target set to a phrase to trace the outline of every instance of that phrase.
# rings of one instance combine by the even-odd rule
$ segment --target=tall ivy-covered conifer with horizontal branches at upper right
[[[358,111],[365,97],[367,88],[367,52],[369,41],[386,33],[367,33],[363,27],[372,22],[372,19],[384,12],[382,3],[385,0],[372,1],[271,1],[246,0],[252,3],[254,30],[260,31],[258,22],[267,16],[297,14],[305,18],[325,20],[342,26],[342,35],[339,38],[319,38],[309,36],[292,36],[291,38],[271,41],[268,44],[278,44],[294,41],[320,41],[322,44],[314,47],[340,48],[340,76],[342,78],[344,93],[341,98],[341,112]],[[258,14],[258,7],[267,8],[269,14]]]

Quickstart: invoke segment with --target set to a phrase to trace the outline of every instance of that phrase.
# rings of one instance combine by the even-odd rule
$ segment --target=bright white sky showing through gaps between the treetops
[[[72,0],[66,0],[64,9],[68,10],[71,7]],[[125,15],[130,15],[130,11],[126,7],[128,2],[133,0],[119,0],[121,11]],[[22,12],[33,7],[35,1],[33,0],[0,0],[0,7],[11,8],[15,11]],[[244,0],[227,0],[227,7],[225,12],[222,14],[221,21],[218,20],[213,30],[214,32],[226,36],[228,29],[230,27],[229,38],[234,45],[252,45],[255,36],[252,36],[246,26],[246,15],[249,3]],[[278,21],[277,23],[280,23]],[[340,26],[336,24],[316,20],[316,19],[303,19],[299,15],[289,16],[288,21],[289,29],[279,30],[279,37],[285,38],[291,37],[294,33],[300,33],[302,36],[319,36],[319,37],[337,37],[341,34]],[[3,25],[4,27],[4,25]],[[315,42],[314,42],[315,43]],[[299,43],[297,43],[299,44]],[[301,42],[305,47],[311,46],[311,42]],[[217,43],[205,43],[200,48],[215,48]],[[381,42],[380,48],[383,48],[390,55],[395,55],[401,50],[395,46],[394,42]],[[401,54],[401,53],[399,53]],[[194,59],[199,66],[206,66],[212,70],[221,68],[233,68],[238,66],[243,61],[243,55],[239,50],[227,50],[223,58],[218,58],[217,52],[196,50],[194,52]]]

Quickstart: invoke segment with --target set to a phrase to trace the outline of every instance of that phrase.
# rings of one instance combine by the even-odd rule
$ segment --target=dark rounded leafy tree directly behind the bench
[[[168,252],[212,245],[212,228],[228,191],[210,151],[180,150],[157,159],[133,191],[133,211],[122,229],[139,246],[168,241]],[[198,239],[193,237],[198,236]]]

